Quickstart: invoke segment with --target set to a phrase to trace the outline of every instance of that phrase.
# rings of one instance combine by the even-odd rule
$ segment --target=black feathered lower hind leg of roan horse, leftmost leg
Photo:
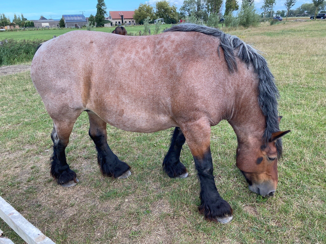
[[[53,156],[51,158],[50,174],[57,180],[58,184],[65,184],[72,180],[77,183],[76,173],[67,164],[65,153],[67,145],[59,140],[54,129],[51,134],[51,139],[53,141]]]

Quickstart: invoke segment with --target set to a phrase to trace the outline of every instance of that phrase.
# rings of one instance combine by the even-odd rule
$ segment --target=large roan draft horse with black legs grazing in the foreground
[[[227,223],[233,210],[216,189],[210,148],[211,126],[226,119],[237,135],[236,165],[249,189],[274,195],[281,136],[289,130],[279,130],[278,91],[266,60],[235,36],[195,24],[140,37],[71,31],[37,50],[31,77],[53,120],[50,171],[58,184],[77,183],[65,148],[86,111],[103,175],[131,174],[107,144],[107,123],[145,133],[175,127],[164,171],[188,175],[180,162],[187,142],[200,180],[199,211]]]

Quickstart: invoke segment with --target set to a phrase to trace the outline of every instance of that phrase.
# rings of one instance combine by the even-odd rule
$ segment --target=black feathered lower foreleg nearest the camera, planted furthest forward
[[[232,216],[233,210],[218,193],[213,176],[213,162],[210,150],[203,158],[194,157],[196,169],[200,180],[200,200],[198,207],[209,221],[220,221],[220,218]]]

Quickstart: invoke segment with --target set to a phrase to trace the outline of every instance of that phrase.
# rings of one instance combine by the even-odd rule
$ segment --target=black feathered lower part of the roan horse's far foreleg
[[[171,144],[168,153],[163,160],[163,170],[170,177],[178,177],[180,175],[185,175],[187,169],[185,165],[180,162],[180,153],[182,146],[185,144],[185,136],[179,127],[175,127]]]

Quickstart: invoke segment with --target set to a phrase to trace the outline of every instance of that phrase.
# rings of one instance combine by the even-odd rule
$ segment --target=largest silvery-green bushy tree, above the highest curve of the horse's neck
[[[243,0],[238,14],[240,25],[244,27],[257,26],[260,22],[260,16],[257,14],[255,5],[250,5],[248,0]]]

